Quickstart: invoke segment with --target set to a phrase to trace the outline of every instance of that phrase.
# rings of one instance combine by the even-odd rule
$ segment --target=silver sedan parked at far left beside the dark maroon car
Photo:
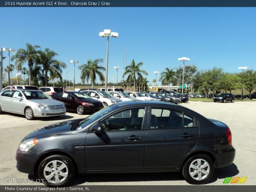
[[[42,91],[14,89],[0,93],[0,114],[3,111],[25,115],[32,120],[35,117],[65,115],[66,107]]]

